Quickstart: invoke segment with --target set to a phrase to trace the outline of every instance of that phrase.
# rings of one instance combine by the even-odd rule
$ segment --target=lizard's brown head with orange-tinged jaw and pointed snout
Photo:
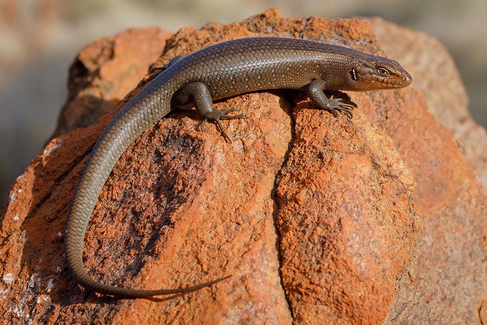
[[[357,91],[396,89],[409,86],[411,75],[394,60],[367,55],[357,60],[350,71],[350,85]]]

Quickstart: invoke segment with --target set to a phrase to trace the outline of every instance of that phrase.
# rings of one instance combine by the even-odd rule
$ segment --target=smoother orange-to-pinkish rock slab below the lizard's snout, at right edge
[[[414,88],[352,94],[358,107],[391,102],[370,115],[393,139],[417,182],[421,251],[395,293],[387,324],[480,324],[485,301],[486,196],[452,135],[436,122]],[[375,115],[375,116],[374,116]]]

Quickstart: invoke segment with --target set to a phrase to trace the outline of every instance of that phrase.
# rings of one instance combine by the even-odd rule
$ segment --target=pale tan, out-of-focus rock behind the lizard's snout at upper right
[[[467,91],[445,46],[430,35],[381,18],[367,21],[387,55],[414,76],[414,87],[434,118],[453,134],[487,189],[487,131],[468,113]]]

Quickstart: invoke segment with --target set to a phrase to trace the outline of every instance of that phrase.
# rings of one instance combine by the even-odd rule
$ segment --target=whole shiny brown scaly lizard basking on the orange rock
[[[213,100],[257,90],[296,89],[307,92],[318,108],[353,117],[351,104],[328,98],[324,90],[371,91],[398,89],[412,83],[396,61],[348,47],[297,38],[240,38],[214,44],[167,67],[134,96],[112,119],[96,142],[79,178],[68,213],[64,249],[76,282],[101,294],[137,298],[194,291],[222,281],[174,289],[143,290],[115,287],[94,280],[83,265],[83,241],[94,205],[110,172],[131,142],[175,108],[195,106],[206,121],[244,118],[217,110]]]

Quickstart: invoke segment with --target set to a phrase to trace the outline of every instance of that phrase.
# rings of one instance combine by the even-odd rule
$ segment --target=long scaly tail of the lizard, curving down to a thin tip
[[[135,290],[105,285],[95,281],[86,273],[83,266],[83,241],[98,195],[116,162],[131,142],[170,111],[169,103],[173,92],[156,94],[152,97],[148,93],[150,88],[143,89],[132,98],[103,131],[81,174],[71,202],[64,237],[67,264],[77,282],[95,292],[133,298],[147,297],[194,291],[228,278],[226,276],[196,286],[177,289]],[[150,109],[147,109],[148,100],[151,103]]]

